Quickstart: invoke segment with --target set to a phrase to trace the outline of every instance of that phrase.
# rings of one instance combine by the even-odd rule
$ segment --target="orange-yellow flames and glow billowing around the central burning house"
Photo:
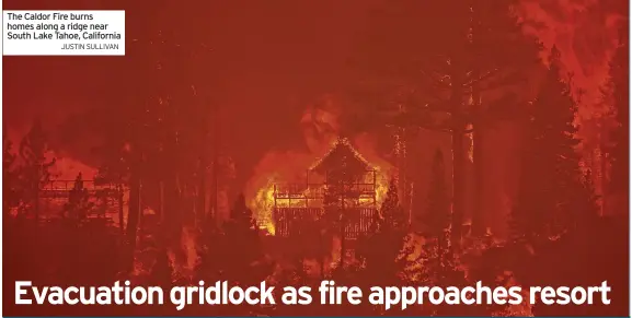
[[[343,109],[343,105],[337,97],[323,96],[313,105],[309,105],[300,118],[304,143],[297,149],[307,149],[307,151],[269,151],[262,157],[254,169],[253,177],[248,181],[244,192],[249,208],[253,211],[260,228],[265,229],[271,235],[275,234],[272,216],[275,207],[275,191],[280,191],[279,185],[306,182],[307,170],[315,165],[319,158],[326,156],[338,138],[341,109]],[[377,153],[370,134],[355,136],[351,143],[355,145],[352,149],[356,155],[376,170],[376,203],[379,205],[386,199],[394,169]],[[315,189],[306,189],[302,195],[309,197],[308,191],[310,190]],[[291,200],[288,200],[287,198],[278,199],[278,197],[276,207],[306,207],[306,201],[302,199],[294,200],[292,197]],[[366,201],[364,203],[367,204],[372,203],[372,199],[363,199],[363,201]]]

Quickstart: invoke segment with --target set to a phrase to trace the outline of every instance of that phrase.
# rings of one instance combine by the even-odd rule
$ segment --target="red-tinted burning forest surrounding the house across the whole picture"
[[[125,106],[116,108],[116,116],[95,101],[97,106],[69,114],[59,126],[33,120],[21,139],[10,138],[11,122],[3,122],[3,284],[13,291],[19,280],[61,286],[130,280],[168,288],[221,280],[318,290],[321,281],[332,280],[369,290],[482,281],[528,292],[529,286],[608,281],[610,305],[383,310],[366,303],[314,302],[194,305],[176,311],[172,306],[16,306],[4,297],[8,316],[625,316],[628,16],[618,21],[619,40],[600,96],[587,103],[559,48],[525,32],[529,25],[516,12],[518,2],[391,2],[357,32],[346,58],[356,78],[338,90],[353,106],[341,107],[334,131],[326,133],[352,140],[371,134],[380,144],[376,153],[391,153],[381,157],[393,173],[351,256],[340,246],[345,244],[342,210],[325,209],[331,217],[284,238],[262,224],[264,212],[253,204],[258,188],[232,181],[250,172],[235,166],[232,157],[239,154],[225,146],[231,137],[222,132],[227,118],[212,95],[222,78],[212,67],[230,57],[219,45],[175,32],[129,39],[126,73],[112,80],[120,81],[112,99]],[[128,32],[142,24],[135,23]],[[206,59],[217,60],[191,67]],[[230,120],[249,129],[256,111],[263,111],[252,108]],[[515,191],[489,186],[503,161],[495,149],[508,146],[490,140],[497,141],[498,127],[506,126],[519,131],[508,139],[517,163]],[[296,127],[279,129],[296,132]],[[82,144],[97,158],[93,175],[83,170],[72,180],[61,178],[53,134],[97,136]],[[335,138],[321,142],[329,146]],[[253,138],[237,148],[256,143]],[[415,157],[420,152],[427,160]],[[292,164],[272,160],[266,172]],[[507,215],[490,213],[489,192],[508,198]],[[491,229],[501,223],[502,235]]]

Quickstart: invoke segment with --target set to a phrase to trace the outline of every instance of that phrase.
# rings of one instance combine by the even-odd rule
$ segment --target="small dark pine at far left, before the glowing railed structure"
[[[27,211],[34,212],[35,219],[39,217],[39,189],[50,180],[50,167],[55,165],[55,158],[46,158],[49,152],[48,137],[36,119],[20,143],[23,203]]]

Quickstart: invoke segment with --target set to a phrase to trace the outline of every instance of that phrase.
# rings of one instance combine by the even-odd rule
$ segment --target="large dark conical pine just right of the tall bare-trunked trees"
[[[560,51],[553,47],[549,71],[527,125],[519,192],[512,211],[516,240],[560,234],[574,214],[582,179],[573,125],[577,105],[570,80],[560,78]]]

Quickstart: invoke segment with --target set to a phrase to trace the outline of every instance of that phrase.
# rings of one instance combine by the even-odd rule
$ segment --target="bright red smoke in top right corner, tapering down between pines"
[[[526,32],[538,36],[545,47],[543,57],[555,46],[561,54],[562,72],[573,74],[574,97],[579,108],[575,123],[579,125],[581,150],[593,170],[596,191],[601,196],[608,166],[601,148],[616,125],[612,92],[604,90],[604,85],[621,37],[619,31],[628,27],[624,15],[629,12],[628,5],[628,1],[621,0],[524,0],[521,8],[528,23]]]

